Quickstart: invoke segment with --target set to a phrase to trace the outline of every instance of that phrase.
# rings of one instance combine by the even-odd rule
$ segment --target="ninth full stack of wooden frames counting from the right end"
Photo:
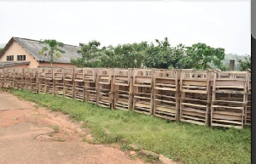
[[[63,68],[63,80],[64,80],[64,97],[67,99],[73,99],[73,71],[74,68]]]

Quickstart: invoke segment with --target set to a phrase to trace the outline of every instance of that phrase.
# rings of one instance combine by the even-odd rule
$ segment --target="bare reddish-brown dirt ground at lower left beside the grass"
[[[144,163],[118,145],[84,142],[81,125],[0,91],[0,163]]]

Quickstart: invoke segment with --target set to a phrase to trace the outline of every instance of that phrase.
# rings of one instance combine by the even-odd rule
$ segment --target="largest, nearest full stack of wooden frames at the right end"
[[[247,71],[213,76],[211,126],[243,128],[247,113]]]

